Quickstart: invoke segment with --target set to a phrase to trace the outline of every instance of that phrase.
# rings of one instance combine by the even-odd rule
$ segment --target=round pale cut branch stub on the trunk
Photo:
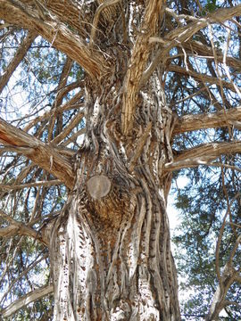
[[[110,192],[111,185],[108,177],[96,175],[87,181],[87,191],[95,200],[100,200]]]

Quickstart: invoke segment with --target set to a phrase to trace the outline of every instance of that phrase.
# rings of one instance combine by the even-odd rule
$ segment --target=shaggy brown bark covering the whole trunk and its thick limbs
[[[163,80],[167,70],[235,93],[237,86],[230,79],[185,69],[185,60],[183,66],[167,62],[173,59],[173,47],[193,50],[195,46],[210,56],[212,48],[200,49],[192,37],[208,24],[224,23],[240,14],[241,5],[192,19],[179,19],[165,5],[162,0],[0,0],[0,18],[29,29],[21,55],[17,53],[9,64],[3,86],[33,35],[44,37],[68,56],[55,108],[31,120],[24,131],[0,119],[0,143],[58,178],[50,185],[61,181],[71,191],[62,214],[47,221],[39,235],[0,213],[9,222],[0,236],[30,235],[49,246],[55,321],[180,320],[166,212],[171,171],[241,150],[240,142],[235,141],[203,144],[177,152],[173,158],[173,135],[201,128],[238,128],[241,110],[239,106],[178,119],[166,105]],[[164,12],[167,20],[171,17],[178,22],[177,27],[174,22],[170,29],[163,27]],[[187,21],[181,22],[184,18]],[[217,60],[221,58],[219,53]],[[85,79],[66,85],[72,61],[84,68]],[[235,59],[227,63],[240,67]],[[62,105],[63,97],[78,86],[85,91]],[[54,132],[63,111],[80,106],[84,109],[63,129],[60,120]],[[86,136],[75,154],[63,146],[83,129],[60,144],[83,117]],[[48,118],[48,144],[27,134]],[[45,181],[34,184],[48,185]],[[16,184],[5,189],[20,186],[24,187]],[[46,288],[46,292],[51,290],[52,285]],[[28,298],[32,297],[30,293]]]

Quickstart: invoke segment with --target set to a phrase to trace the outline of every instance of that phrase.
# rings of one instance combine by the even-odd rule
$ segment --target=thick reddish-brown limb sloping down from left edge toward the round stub
[[[36,137],[30,136],[19,128],[0,119],[0,142],[5,146],[16,148],[40,168],[46,169],[54,177],[59,178],[67,187],[74,185],[74,174],[71,162],[51,145],[44,144]]]

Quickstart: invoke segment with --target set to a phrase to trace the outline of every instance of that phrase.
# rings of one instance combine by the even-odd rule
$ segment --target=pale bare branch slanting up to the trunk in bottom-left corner
[[[24,295],[20,300],[12,302],[8,307],[1,311],[2,317],[10,317],[13,313],[27,306],[29,303],[41,299],[47,294],[50,294],[54,291],[53,285],[42,286],[28,294]]]

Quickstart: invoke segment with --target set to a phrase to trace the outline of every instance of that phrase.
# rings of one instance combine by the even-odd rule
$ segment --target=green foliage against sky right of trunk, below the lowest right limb
[[[180,289],[186,293],[181,303],[183,315],[187,320],[201,320],[201,316],[205,316],[208,312],[218,284],[215,251],[220,226],[228,207],[227,202],[240,191],[241,177],[240,174],[236,174],[234,178],[234,173],[229,169],[221,172],[220,169],[210,168],[186,170],[183,175],[188,177],[187,185],[178,191],[173,191],[176,193],[175,205],[179,209],[181,223],[175,229],[172,241],[176,245],[175,258],[179,269]],[[240,228],[234,229],[228,223],[231,219],[233,223],[240,222],[240,196],[233,203],[230,215],[220,244],[220,268],[223,268],[229,260],[230,252],[240,233]],[[240,250],[236,252],[233,266],[236,268],[241,266]],[[229,289],[227,300],[241,303],[239,292],[239,285],[233,284]],[[229,306],[225,311],[226,320],[241,318],[240,309],[237,307]]]

